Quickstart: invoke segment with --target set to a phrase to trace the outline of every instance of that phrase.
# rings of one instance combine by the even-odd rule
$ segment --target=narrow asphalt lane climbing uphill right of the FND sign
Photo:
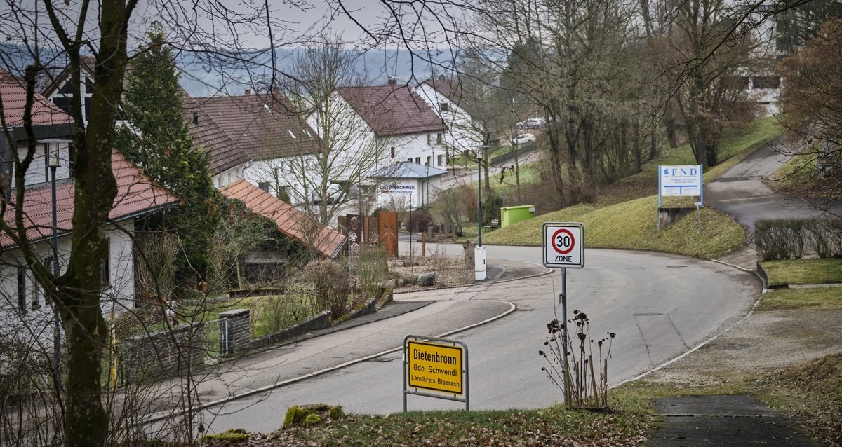
[[[754,223],[767,218],[815,218],[823,211],[809,203],[776,194],[763,184],[788,158],[775,151],[776,139],[749,155],[725,174],[705,185],[705,202],[754,231]],[[842,204],[832,208],[842,215]]]

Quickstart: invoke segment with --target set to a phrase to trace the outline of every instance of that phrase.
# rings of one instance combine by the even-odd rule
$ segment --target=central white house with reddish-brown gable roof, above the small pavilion
[[[360,129],[360,146],[372,141],[381,151],[376,166],[411,161],[445,169],[447,126],[412,88],[394,81],[386,86],[342,87],[336,94],[348,105],[348,123]],[[319,128],[317,115],[308,121]]]

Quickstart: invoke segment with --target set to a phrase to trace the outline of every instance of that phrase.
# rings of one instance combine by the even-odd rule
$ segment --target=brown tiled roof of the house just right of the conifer
[[[193,112],[200,110],[200,126],[204,125],[203,118],[212,120],[251,160],[312,154],[319,150],[316,132],[303,122],[303,118],[299,120],[299,116],[291,112],[289,103],[275,95],[194,97],[184,102],[184,110],[191,128],[195,126]],[[197,135],[200,134],[202,132]],[[205,137],[199,136],[202,138]],[[208,149],[215,150],[213,147]],[[232,150],[220,150],[221,156],[233,156],[229,153]]]

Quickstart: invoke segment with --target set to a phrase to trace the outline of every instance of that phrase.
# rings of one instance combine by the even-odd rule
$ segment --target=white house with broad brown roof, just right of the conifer
[[[294,204],[306,202],[298,166],[313,166],[319,139],[290,103],[272,93],[192,97],[184,119],[195,145],[210,150],[216,187],[244,179]]]

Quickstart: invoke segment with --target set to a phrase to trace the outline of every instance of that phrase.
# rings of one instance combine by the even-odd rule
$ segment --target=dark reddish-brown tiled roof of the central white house
[[[446,129],[441,118],[408,86],[342,87],[337,91],[377,136]]]

